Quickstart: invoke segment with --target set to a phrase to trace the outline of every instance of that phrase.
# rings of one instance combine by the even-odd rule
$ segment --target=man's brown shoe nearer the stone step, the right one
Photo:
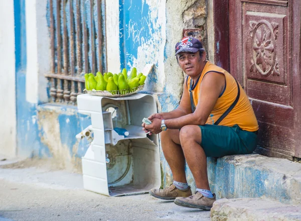
[[[178,197],[174,201],[177,205],[190,207],[190,208],[197,208],[197,209],[204,209],[210,210],[214,201],[216,200],[215,194],[213,193],[212,198],[207,198],[203,196],[202,193],[196,192],[192,196],[189,197]]]

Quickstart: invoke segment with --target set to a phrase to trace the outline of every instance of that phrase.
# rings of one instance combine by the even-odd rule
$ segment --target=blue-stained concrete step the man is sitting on
[[[265,197],[301,204],[301,164],[258,154],[208,158],[210,187],[217,198]]]

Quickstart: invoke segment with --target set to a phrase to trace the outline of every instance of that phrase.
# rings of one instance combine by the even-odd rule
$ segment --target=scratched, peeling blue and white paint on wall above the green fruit
[[[165,1],[133,0],[130,3],[124,2],[123,7],[129,9],[122,12],[125,24],[123,47],[126,68],[136,67],[140,72],[145,64],[155,64],[157,76],[146,81],[144,89],[160,92],[165,83]],[[156,79],[156,84],[148,85],[147,82],[152,82],[154,79]]]

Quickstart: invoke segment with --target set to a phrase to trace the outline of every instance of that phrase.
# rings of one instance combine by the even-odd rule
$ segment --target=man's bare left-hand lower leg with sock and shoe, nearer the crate
[[[166,161],[171,167],[174,183],[169,187],[151,189],[149,193],[160,199],[175,199],[179,196],[192,195],[185,175],[185,157],[180,145],[179,130],[168,129],[161,133],[161,144]],[[177,187],[175,186],[177,185]],[[182,186],[181,186],[182,185]],[[186,186],[184,188],[184,186]]]

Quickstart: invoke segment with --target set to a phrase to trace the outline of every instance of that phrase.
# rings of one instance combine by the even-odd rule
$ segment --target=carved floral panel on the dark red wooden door
[[[286,84],[285,15],[247,12],[245,16],[248,79]]]

